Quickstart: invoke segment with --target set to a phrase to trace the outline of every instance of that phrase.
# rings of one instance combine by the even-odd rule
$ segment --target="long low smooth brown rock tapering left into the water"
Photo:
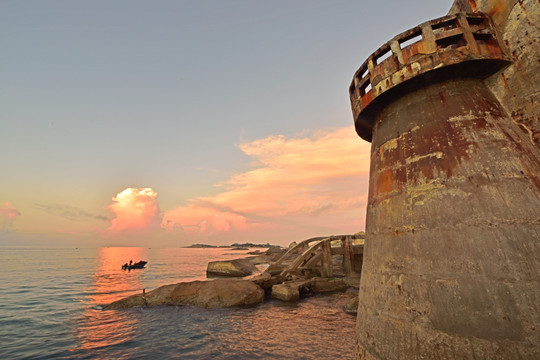
[[[205,309],[254,305],[264,300],[264,290],[248,280],[218,279],[161,286],[146,296],[132,295],[104,307],[105,310],[135,306],[194,305]]]

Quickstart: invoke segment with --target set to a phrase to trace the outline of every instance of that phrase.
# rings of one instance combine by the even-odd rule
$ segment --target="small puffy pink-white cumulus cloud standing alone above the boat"
[[[151,229],[159,225],[157,192],[152,188],[127,188],[112,198],[108,209],[115,215],[109,231]]]

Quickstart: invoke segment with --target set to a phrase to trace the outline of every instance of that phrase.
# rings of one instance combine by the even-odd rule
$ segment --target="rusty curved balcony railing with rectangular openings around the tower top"
[[[503,49],[490,17],[483,13],[444,16],[397,35],[367,58],[349,87],[358,134],[371,141],[374,113],[384,106],[382,95],[387,92],[407,91],[402,85],[414,86],[411,80],[490,75],[510,63]],[[463,69],[471,62],[476,64]],[[458,65],[463,66],[452,71]]]

